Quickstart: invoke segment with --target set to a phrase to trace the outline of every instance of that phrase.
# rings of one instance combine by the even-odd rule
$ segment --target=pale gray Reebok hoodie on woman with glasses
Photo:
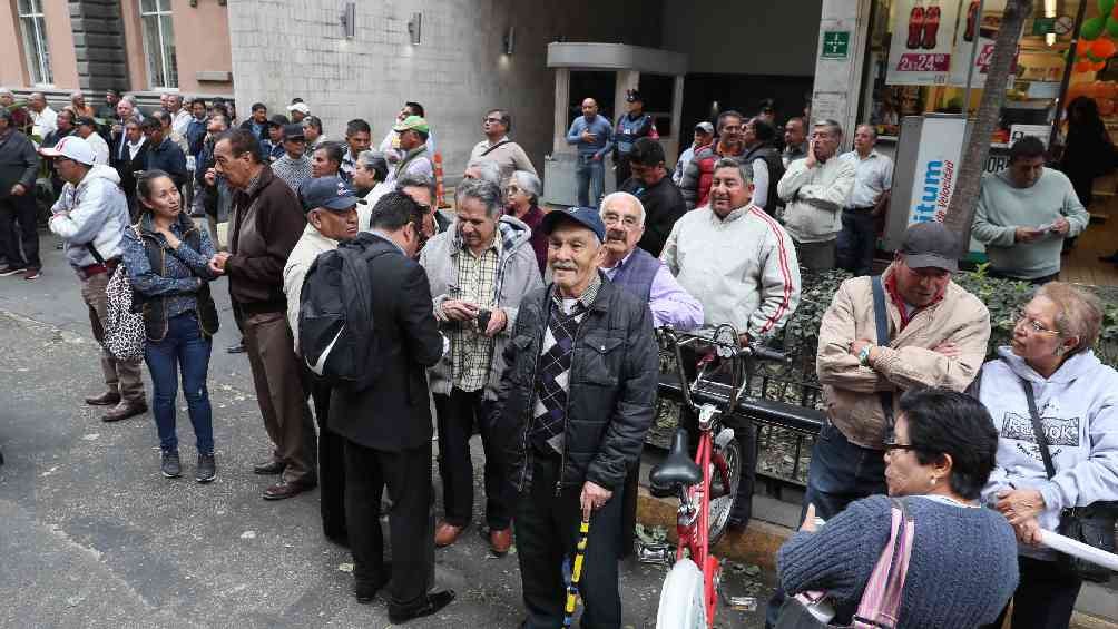
[[[1002,360],[983,365],[979,395],[999,435],[997,464],[983,489],[993,505],[1005,489],[1038,489],[1044,496],[1041,527],[1054,531],[1060,509],[1118,499],[1118,372],[1086,351],[1064,361],[1049,379],[1033,371],[1010,347]],[[1035,393],[1049,439],[1055,476],[1044,471],[1033,436],[1021,378]],[[1052,560],[1053,551],[1021,546],[1022,554]]]

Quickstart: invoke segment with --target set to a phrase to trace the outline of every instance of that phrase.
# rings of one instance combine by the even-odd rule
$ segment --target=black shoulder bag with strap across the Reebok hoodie
[[[1048,436],[1044,433],[1044,425],[1041,421],[1041,413],[1036,410],[1036,398],[1033,393],[1032,382],[1018,377],[1021,388],[1025,390],[1025,399],[1029,400],[1029,416],[1033,421],[1033,436],[1036,438],[1036,447],[1044,459],[1044,471],[1049,479],[1055,476],[1055,465],[1052,463],[1052,452],[1049,450]],[[1060,524],[1055,532],[1064,537],[1071,537],[1089,546],[1101,549],[1108,553],[1115,552],[1115,520],[1118,516],[1118,503],[1098,502],[1083,507],[1070,507],[1060,512]],[[1059,562],[1084,581],[1095,583],[1106,583],[1110,580],[1110,570],[1091,563],[1084,559],[1060,553]]]

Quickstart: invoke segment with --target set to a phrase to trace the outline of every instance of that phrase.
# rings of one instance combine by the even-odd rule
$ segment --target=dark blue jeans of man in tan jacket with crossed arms
[[[807,505],[815,505],[816,517],[831,520],[854,501],[885,493],[884,452],[851,444],[830,420],[824,421],[812,449],[799,521],[804,521]],[[776,626],[784,599],[778,585],[766,611],[767,627]]]

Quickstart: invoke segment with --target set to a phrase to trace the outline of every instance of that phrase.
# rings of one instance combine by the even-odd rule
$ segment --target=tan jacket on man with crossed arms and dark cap
[[[892,271],[890,266],[882,278]],[[881,347],[872,369],[861,366],[849,347],[859,339],[877,339],[873,289],[870,277],[843,282],[819,324],[815,363],[827,417],[851,442],[874,449],[882,448],[885,426],[879,391],[894,392],[894,413],[900,394],[908,389],[963,391],[978,373],[989,342],[989,312],[954,282],[947,285],[942,299],[917,311],[903,331],[900,311],[888,294],[885,303],[889,344]],[[949,359],[934,352],[941,343],[954,343],[959,356]]]

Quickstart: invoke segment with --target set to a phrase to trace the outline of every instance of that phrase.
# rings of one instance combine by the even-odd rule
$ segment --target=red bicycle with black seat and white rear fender
[[[708,331],[709,332],[709,331]],[[712,333],[679,333],[662,328],[661,341],[674,353],[680,378],[682,403],[698,416],[699,445],[694,460],[689,456],[688,431],[679,428],[667,457],[650,476],[650,492],[657,497],[678,496],[675,563],[664,578],[660,592],[656,627],[660,629],[711,629],[718,610],[721,563],[710,547],[726,532],[737,499],[741,477],[741,445],[733,429],[722,426],[746,393],[746,370],[752,356],[784,361],[783,354],[761,346],[738,343],[738,333],[720,325]],[[699,356],[693,382],[688,382],[682,347]],[[716,374],[727,374],[716,381]],[[729,382],[726,382],[726,381]],[[699,404],[693,394],[718,399]],[[712,394],[711,394],[712,393]]]

